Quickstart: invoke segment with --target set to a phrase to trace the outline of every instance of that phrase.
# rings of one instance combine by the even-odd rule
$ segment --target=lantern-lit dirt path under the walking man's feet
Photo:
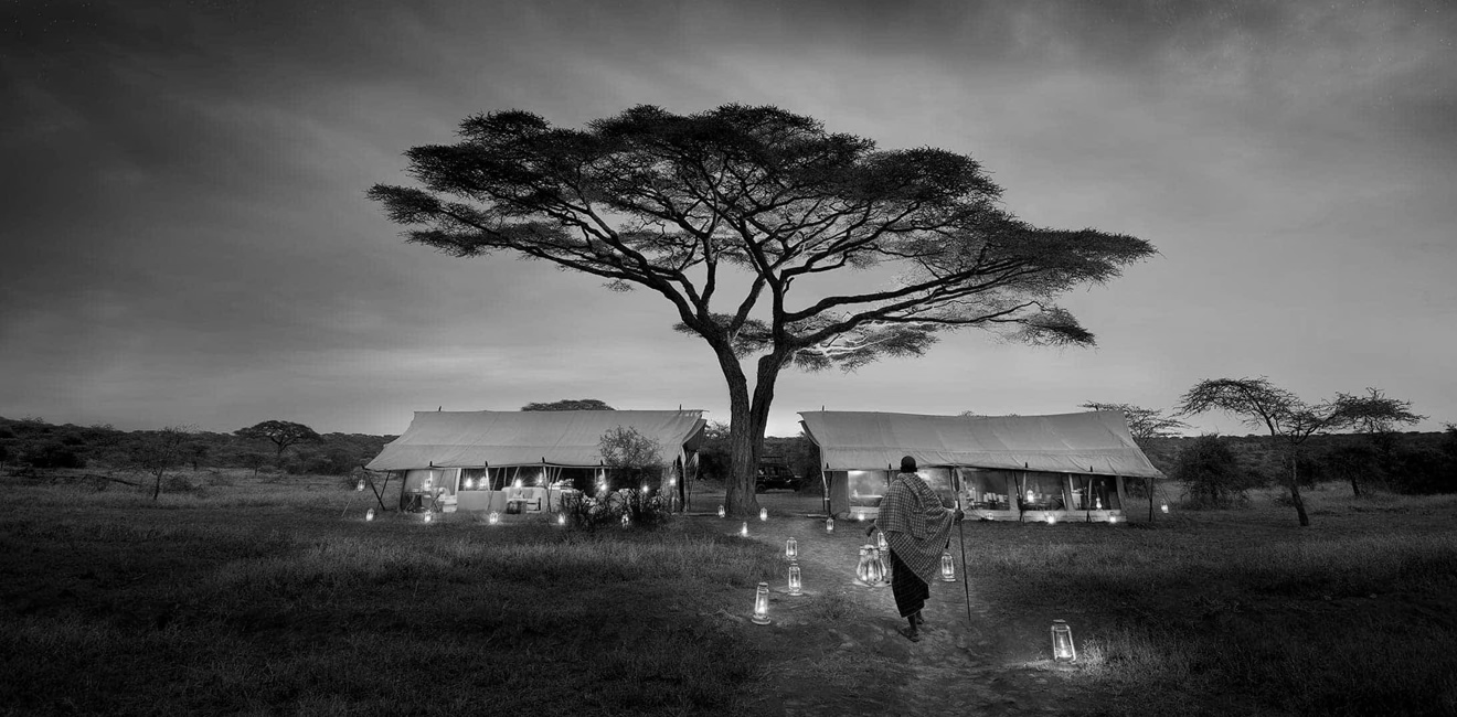
[[[970,584],[970,624],[957,542],[957,581],[931,586],[919,643],[896,630],[905,622],[889,587],[855,580],[865,523],[838,523],[826,533],[822,519],[803,517],[819,498],[790,493],[761,495],[768,522],[752,520],[752,539],[782,549],[798,542],[803,596],[771,583],[772,625],[745,619],[771,665],[771,694],[755,711],[769,714],[1059,714],[1085,708],[1088,694],[1077,672],[1048,660],[1050,616],[994,606],[976,579]],[[714,520],[714,519],[707,519]],[[726,529],[739,523],[726,520]],[[746,605],[747,609],[747,605]],[[743,616],[737,616],[743,619]]]

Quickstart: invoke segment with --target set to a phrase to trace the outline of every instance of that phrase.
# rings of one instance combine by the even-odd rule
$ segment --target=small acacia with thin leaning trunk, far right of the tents
[[[1190,415],[1224,411],[1247,426],[1265,426],[1276,449],[1284,447],[1289,463],[1289,498],[1301,526],[1310,525],[1305,501],[1300,497],[1298,459],[1301,446],[1317,433],[1349,428],[1365,421],[1396,421],[1409,404],[1386,398],[1336,393],[1333,401],[1308,405],[1295,393],[1275,386],[1266,377],[1208,379],[1195,383],[1179,402],[1179,412]],[[1421,420],[1419,417],[1416,420]]]

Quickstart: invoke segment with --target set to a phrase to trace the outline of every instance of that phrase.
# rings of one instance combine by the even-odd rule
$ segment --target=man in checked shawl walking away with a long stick
[[[896,609],[906,618],[900,634],[921,641],[921,608],[931,596],[931,580],[941,564],[941,551],[951,542],[951,525],[962,520],[962,509],[947,509],[941,498],[916,475],[915,459],[900,459],[900,472],[880,498],[880,514],[865,530],[886,533],[890,545],[890,592]]]

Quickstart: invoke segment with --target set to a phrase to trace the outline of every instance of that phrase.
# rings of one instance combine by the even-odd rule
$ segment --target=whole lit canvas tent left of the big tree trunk
[[[680,478],[705,421],[702,411],[417,411],[366,468],[404,478],[401,509],[555,512],[562,494],[594,491],[602,436],[619,426],[656,440]]]

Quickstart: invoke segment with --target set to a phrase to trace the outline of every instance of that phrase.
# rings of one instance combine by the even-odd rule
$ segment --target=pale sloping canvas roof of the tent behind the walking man
[[[1119,411],[1056,415],[919,415],[806,411],[804,431],[830,471],[963,465],[1163,478]]]

